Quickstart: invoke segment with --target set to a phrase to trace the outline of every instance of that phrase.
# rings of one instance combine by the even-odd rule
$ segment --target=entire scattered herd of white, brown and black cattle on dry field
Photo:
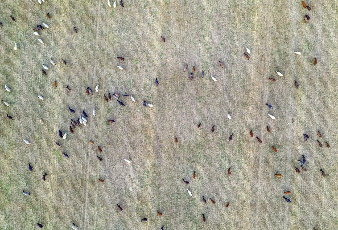
[[[38,0],[38,2],[39,2],[40,4],[42,4],[42,3],[45,2],[45,1],[44,1],[44,0]],[[107,4],[111,7],[110,0],[107,0]],[[311,10],[311,7],[310,7],[310,6],[307,6],[306,3],[305,3],[304,1],[302,1],[302,4],[303,4],[304,8],[307,8],[309,11]],[[122,2],[122,0],[120,1],[120,5],[121,5],[121,7],[123,7],[123,2]],[[116,1],[114,2],[113,6],[114,6],[114,8],[116,7]],[[49,13],[46,13],[46,18],[48,18],[48,19],[51,18],[51,16],[50,16]],[[16,22],[15,18],[13,17],[13,15],[10,15],[10,19],[11,19],[12,21]],[[306,14],[306,15],[305,15],[305,19],[304,19],[305,23],[307,23],[307,22],[309,21],[309,19],[310,19],[309,15]],[[1,22],[0,22],[0,25],[3,26],[3,24],[2,24]],[[45,28],[49,28],[49,26],[48,26],[47,24],[43,23],[43,25],[44,25]],[[39,32],[37,32],[37,31],[41,31],[41,30],[43,30],[43,29],[44,29],[44,28],[43,28],[41,25],[37,25],[36,27],[33,28],[33,30],[34,30],[33,34],[36,35],[36,36],[40,36]],[[78,33],[76,27],[73,27],[73,31],[74,31],[75,33]],[[163,42],[165,42],[165,38],[164,38],[163,36],[161,36],[160,38],[161,38],[161,40],[162,40]],[[43,40],[42,40],[41,38],[39,38],[38,40],[39,40],[39,42],[43,43]],[[18,44],[17,44],[17,43],[15,43],[14,50],[16,50],[16,51],[19,50]],[[294,52],[294,53],[297,54],[297,55],[301,55],[300,52]],[[249,59],[249,58],[250,58],[249,54],[250,54],[250,50],[249,50],[248,48],[246,48],[246,53],[244,53],[244,57],[247,58],[247,59]],[[120,61],[125,61],[125,59],[124,59],[123,57],[117,57],[117,59],[120,60]],[[61,58],[61,61],[63,62],[64,65],[67,65],[67,62],[64,60],[64,58]],[[50,59],[50,63],[51,63],[52,65],[57,65],[53,59]],[[317,58],[314,58],[314,63],[313,63],[313,64],[314,64],[314,65],[317,64]],[[219,65],[220,65],[220,68],[224,68],[224,64],[223,64],[222,61],[219,61]],[[46,70],[49,69],[49,67],[47,67],[47,64],[46,64],[46,65],[45,65],[45,64],[42,64],[42,67],[43,67],[43,69],[41,70],[42,73],[45,74],[45,75],[48,75],[48,73],[46,72]],[[120,66],[120,65],[117,66],[117,68],[119,68],[120,70],[123,70],[123,67]],[[187,69],[188,69],[188,65],[186,64],[186,65],[184,66],[184,68],[183,68],[183,72],[186,72]],[[195,67],[195,66],[192,66],[192,72],[189,74],[190,80],[193,80],[193,74],[194,74],[195,72],[196,72],[196,67]],[[276,71],[276,73],[277,73],[278,76],[283,76],[283,74],[282,74],[281,72]],[[201,77],[203,78],[204,76],[205,76],[204,70],[202,70],[202,71],[201,71]],[[216,79],[214,76],[212,76],[212,75],[211,75],[211,78],[212,78],[214,81],[217,81],[217,79]],[[268,78],[268,80],[276,81],[276,80],[275,80],[274,78],[272,78],[272,77]],[[294,80],[294,82],[295,82],[295,87],[296,87],[296,89],[298,89],[298,87],[299,87],[298,82],[297,82],[296,80]],[[155,84],[156,84],[156,86],[159,86],[159,80],[158,80],[158,78],[155,79]],[[54,87],[57,87],[57,81],[56,81],[56,80],[54,80],[53,86],[54,86]],[[66,88],[67,91],[72,92],[72,90],[70,89],[70,87],[69,87],[68,85],[67,85],[65,88]],[[8,86],[7,84],[5,85],[5,90],[8,91],[8,92],[11,92],[11,89],[9,88],[9,86]],[[100,90],[100,89],[99,89],[99,85],[97,85],[97,86],[95,87],[96,93],[98,93],[99,90]],[[88,95],[93,95],[93,90],[92,90],[90,87],[87,87],[86,93],[87,93]],[[122,102],[122,98],[127,98],[127,97],[129,97],[128,94],[123,94],[122,97],[121,97],[121,96],[119,95],[119,93],[117,93],[117,92],[114,92],[114,93],[112,93],[112,94],[111,94],[111,93],[108,93],[108,97],[105,95],[105,93],[103,94],[103,99],[105,100],[105,102],[109,102],[110,100],[115,99],[115,100],[118,102],[118,104],[121,105],[121,106],[124,106],[124,103]],[[43,97],[42,95],[38,95],[38,98],[41,99],[41,100],[44,100],[44,97]],[[132,100],[133,102],[136,103],[136,100],[135,100],[134,97],[132,97],[132,96],[130,95],[130,98],[131,98],[131,100]],[[4,100],[2,100],[2,102],[3,102],[6,106],[8,106],[8,107],[11,106],[8,102],[6,102],[6,101],[4,101]],[[269,104],[267,104],[267,103],[266,103],[265,105],[266,105],[269,109],[273,109],[273,107],[272,107],[271,105],[269,105]],[[149,107],[153,107],[152,104],[147,103],[146,101],[143,101],[143,106],[144,106],[144,107],[148,107],[148,106],[149,106]],[[72,109],[71,107],[68,107],[68,110],[69,110],[71,113],[76,113],[76,111],[75,111],[74,109]],[[93,113],[93,116],[96,115],[96,110],[95,110],[95,108],[93,108],[92,113]],[[271,119],[273,119],[273,120],[276,119],[276,118],[275,118],[273,115],[271,115],[271,114],[267,114],[267,115],[268,115]],[[15,120],[15,119],[13,118],[13,115],[12,115],[12,114],[11,114],[11,115],[7,114],[6,116],[7,116],[7,118],[8,118],[9,120],[13,120],[13,121]],[[89,117],[89,116],[87,115],[87,113],[86,113],[84,110],[82,110],[82,112],[80,112],[80,115],[79,115],[79,117],[78,117],[77,119],[76,119],[76,118],[75,118],[74,120],[73,120],[73,119],[70,119],[69,132],[70,132],[70,133],[73,133],[73,132],[74,132],[74,129],[77,128],[77,127],[80,127],[82,124],[83,124],[84,126],[87,126],[87,122],[88,122],[88,121],[87,121],[87,118],[88,118],[88,117]],[[231,120],[231,115],[230,115],[229,113],[227,113],[227,118]],[[108,123],[114,123],[115,120],[113,120],[113,119],[108,119],[107,122],[108,122]],[[44,121],[43,121],[42,118],[40,119],[40,123],[41,123],[41,124],[44,124]],[[198,124],[198,125],[197,125],[197,128],[200,128],[200,127],[201,127],[201,124]],[[211,131],[212,131],[212,132],[215,131],[215,125],[212,126]],[[266,126],[266,131],[267,131],[267,132],[270,132],[270,128],[269,128],[268,126]],[[63,133],[63,132],[61,131],[61,129],[58,130],[58,135],[59,135],[59,137],[62,138],[62,139],[66,139],[67,134],[68,134],[67,131],[66,131],[65,133]],[[254,137],[254,133],[253,133],[252,130],[250,130],[250,131],[248,132],[248,134],[250,135],[250,137],[252,137],[252,138]],[[232,133],[232,134],[229,136],[229,138],[228,138],[229,141],[232,141],[233,135],[234,135],[234,134]],[[317,136],[318,136],[318,138],[322,138],[322,135],[321,135],[320,131],[317,131]],[[305,141],[305,142],[307,142],[307,141],[310,139],[309,135],[306,134],[306,133],[303,134],[303,137],[304,137],[304,141]],[[258,136],[256,136],[256,139],[257,139],[258,142],[262,143],[262,140],[261,140]],[[23,140],[24,140],[24,142],[25,142],[26,144],[30,144],[29,140],[27,140],[27,139],[23,139]],[[178,142],[178,139],[177,139],[176,136],[174,136],[174,141],[175,141],[176,143]],[[321,143],[321,141],[320,141],[319,139],[316,140],[316,142],[318,143],[319,147],[322,147],[322,146],[323,146],[322,143]],[[62,146],[62,145],[60,145],[60,143],[59,143],[58,141],[56,141],[56,140],[54,140],[54,143],[55,143],[57,146],[60,146],[60,147]],[[90,143],[90,144],[94,144],[94,141],[90,140],[89,143]],[[330,144],[329,144],[328,142],[325,142],[325,145],[326,145],[327,148],[330,147]],[[274,151],[274,152],[278,152],[278,150],[276,149],[275,146],[271,146],[271,149],[272,149],[272,151]],[[98,150],[99,153],[101,153],[101,152],[102,152],[101,146],[97,146],[97,150]],[[67,157],[67,158],[70,157],[67,153],[62,152],[62,154],[63,154],[64,157]],[[103,161],[102,157],[100,157],[99,155],[97,155],[97,159],[98,159],[99,161]],[[130,161],[129,159],[124,159],[124,160],[125,160],[127,163],[131,163],[131,161]],[[298,161],[300,162],[300,168],[301,168],[303,171],[307,171],[307,169],[304,167],[305,164],[306,164],[306,157],[305,157],[304,155],[301,155],[301,159],[300,159],[300,160],[298,159]],[[300,173],[300,170],[299,170],[295,165],[294,165],[293,167],[295,168],[296,173]],[[31,163],[28,164],[28,170],[29,170],[29,171],[33,171],[33,166],[31,165]],[[326,176],[325,172],[324,172],[322,169],[318,169],[318,171],[322,174],[323,177]],[[228,168],[227,173],[228,173],[228,176],[231,175],[231,168]],[[44,173],[44,174],[42,175],[42,180],[46,180],[46,176],[47,176],[47,173]],[[275,176],[276,176],[276,177],[282,177],[282,174],[275,173]],[[196,171],[193,172],[192,178],[193,178],[193,179],[196,178]],[[104,182],[105,180],[102,179],[102,178],[98,178],[98,181],[99,181],[100,183],[102,183],[102,182]],[[189,184],[189,182],[188,182],[187,180],[185,180],[184,178],[183,178],[183,183]],[[23,190],[22,192],[23,192],[24,195],[27,195],[27,196],[30,195],[30,193],[27,192],[27,191],[25,191],[25,190]],[[187,192],[188,192],[188,194],[189,194],[190,196],[192,196],[192,193],[191,193],[191,191],[190,191],[189,189],[187,189]],[[289,194],[291,194],[291,191],[285,191],[283,194],[289,195]],[[287,197],[285,197],[285,196],[283,196],[283,198],[285,199],[285,201],[291,203],[291,200],[290,200],[289,198],[287,198]],[[204,198],[204,196],[201,197],[201,201],[203,201],[204,203],[207,203],[207,200]],[[210,198],[210,202],[211,202],[212,204],[215,204],[215,203],[216,203],[212,198]],[[225,204],[225,207],[229,207],[229,205],[230,205],[230,202],[227,202],[227,203]],[[117,204],[117,208],[118,208],[118,210],[120,210],[120,211],[123,210],[123,208],[120,206],[120,204]],[[157,211],[157,215],[158,215],[158,216],[162,216],[163,214],[158,210],[158,211]],[[202,221],[203,221],[203,222],[206,222],[206,218],[205,218],[204,214],[201,214],[201,215],[202,215]],[[147,219],[147,218],[143,218],[141,221],[148,221],[148,219]],[[42,225],[41,223],[37,223],[37,226],[38,226],[39,228],[43,228],[43,227],[44,227],[44,225]],[[71,227],[72,227],[74,230],[78,229],[78,227],[76,227],[75,223],[72,223]],[[163,230],[163,229],[164,229],[164,226],[162,226],[161,229]],[[315,228],[313,228],[313,229],[316,230]]]

